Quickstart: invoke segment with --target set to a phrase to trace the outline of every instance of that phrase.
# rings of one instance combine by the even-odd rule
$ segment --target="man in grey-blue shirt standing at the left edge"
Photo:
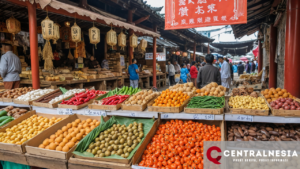
[[[20,76],[22,73],[21,61],[12,52],[11,45],[2,45],[3,53],[0,62],[0,74],[3,78],[5,89],[15,89],[20,86]]]

